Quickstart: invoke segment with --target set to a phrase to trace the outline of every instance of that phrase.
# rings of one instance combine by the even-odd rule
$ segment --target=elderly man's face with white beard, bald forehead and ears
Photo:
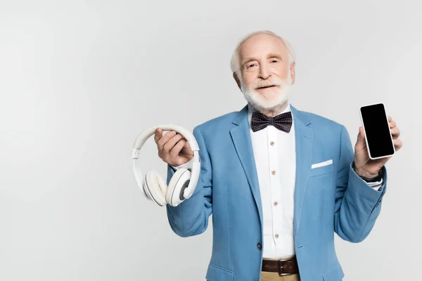
[[[279,113],[295,79],[295,63],[290,65],[283,42],[269,34],[252,35],[239,49],[239,62],[242,79],[234,78],[248,103],[264,114]]]

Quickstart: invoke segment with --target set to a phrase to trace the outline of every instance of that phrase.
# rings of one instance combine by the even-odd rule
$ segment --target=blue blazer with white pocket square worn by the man
[[[344,273],[334,233],[361,242],[381,211],[386,191],[374,190],[352,169],[354,150],[342,124],[290,104],[295,126],[295,253],[301,281],[340,281]],[[200,178],[193,195],[167,218],[177,235],[203,233],[212,214],[212,256],[206,279],[257,281],[262,268],[262,204],[250,140],[248,105],[193,129]],[[311,169],[332,159],[333,164]],[[167,184],[174,170],[167,165]],[[262,246],[262,247],[261,247]]]

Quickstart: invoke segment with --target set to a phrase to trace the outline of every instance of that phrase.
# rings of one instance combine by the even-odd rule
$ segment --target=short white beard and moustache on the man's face
[[[262,81],[262,80],[261,80]],[[290,76],[290,68],[288,70],[287,78],[280,79],[277,76],[273,76],[270,81],[267,81],[267,84],[274,83],[276,85],[280,85],[279,91],[276,93],[258,93],[255,91],[257,86],[257,81],[250,86],[250,89],[243,84],[241,79],[241,91],[245,99],[248,101],[248,104],[258,110],[260,112],[267,111],[267,110],[275,110],[276,107],[283,105],[289,98],[290,88],[292,86],[292,77]]]

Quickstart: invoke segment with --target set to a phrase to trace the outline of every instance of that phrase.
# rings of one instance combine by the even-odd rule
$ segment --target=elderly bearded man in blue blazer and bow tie
[[[231,69],[248,104],[193,129],[200,178],[188,200],[167,205],[172,230],[199,235],[212,214],[210,281],[342,280],[334,233],[350,242],[369,235],[391,157],[369,159],[362,127],[353,151],[345,126],[290,104],[295,55],[273,32],[241,40]],[[397,151],[399,129],[388,120]],[[155,142],[168,184],[193,152],[174,131],[157,129]]]

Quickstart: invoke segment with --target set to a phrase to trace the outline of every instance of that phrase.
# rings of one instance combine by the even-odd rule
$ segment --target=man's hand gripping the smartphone
[[[399,140],[400,131],[399,127],[396,126],[396,122],[388,116],[388,124],[390,124],[390,131],[392,135],[392,141],[394,143],[395,151],[402,148],[403,143]],[[378,176],[378,171],[384,166],[390,157],[384,157],[380,159],[369,159],[368,150],[366,148],[364,128],[359,126],[359,134],[357,135],[357,142],[354,145],[354,171],[359,176],[366,178],[374,178]]]

